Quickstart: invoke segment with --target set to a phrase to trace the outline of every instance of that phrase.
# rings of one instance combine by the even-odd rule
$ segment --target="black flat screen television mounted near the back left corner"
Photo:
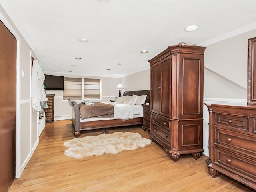
[[[45,75],[45,90],[64,90],[64,77],[55,75]]]

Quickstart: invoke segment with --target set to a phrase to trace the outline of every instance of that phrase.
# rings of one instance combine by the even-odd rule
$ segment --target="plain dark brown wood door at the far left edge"
[[[0,192],[7,192],[16,165],[17,41],[0,22]]]

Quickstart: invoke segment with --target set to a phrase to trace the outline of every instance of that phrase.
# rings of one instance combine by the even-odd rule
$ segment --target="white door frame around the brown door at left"
[[[7,15],[7,14],[6,14]],[[17,40],[17,58],[16,58],[16,178],[20,177],[21,174],[21,165],[20,165],[20,157],[21,157],[21,131],[20,131],[20,51],[21,51],[21,38],[20,35],[16,32],[16,28],[14,29],[11,25],[12,21],[6,19],[6,17],[2,14],[2,10],[0,10],[0,20],[2,23],[8,28],[8,30],[12,33],[12,35]]]

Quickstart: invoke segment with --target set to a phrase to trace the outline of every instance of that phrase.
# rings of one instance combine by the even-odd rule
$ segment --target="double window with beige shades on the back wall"
[[[63,99],[95,100],[101,98],[101,80],[64,77]]]

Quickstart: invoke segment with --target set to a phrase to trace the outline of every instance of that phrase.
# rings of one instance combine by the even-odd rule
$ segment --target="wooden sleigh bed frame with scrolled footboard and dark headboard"
[[[123,96],[142,96],[147,95],[145,103],[150,101],[150,90],[139,90],[139,91],[126,91]],[[143,124],[143,113],[140,115],[134,115],[131,119],[120,119],[116,117],[106,116],[104,118],[88,118],[82,120],[80,114],[79,105],[72,98],[68,99],[69,105],[72,107],[72,124],[74,126],[76,137],[80,136],[80,131],[92,130],[100,128],[118,127],[118,126],[128,126],[128,125],[139,125]],[[115,102],[110,102],[109,104],[114,104]],[[116,116],[116,115],[115,115]]]

